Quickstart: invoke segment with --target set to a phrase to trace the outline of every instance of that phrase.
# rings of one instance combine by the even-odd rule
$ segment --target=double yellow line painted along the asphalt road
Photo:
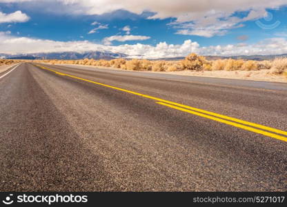
[[[174,108],[176,110],[180,110],[180,111],[183,111],[183,112],[188,112],[188,113],[190,113],[192,115],[197,115],[199,117],[204,117],[206,119],[211,119],[211,120],[214,120],[214,121],[218,121],[218,122],[221,122],[223,124],[228,124],[230,126],[235,126],[237,128],[248,130],[250,132],[255,132],[257,134],[265,135],[267,137],[272,137],[272,138],[275,138],[275,139],[279,139],[281,141],[287,141],[287,137],[286,137],[287,136],[287,132],[284,131],[284,130],[279,130],[279,129],[276,129],[276,128],[271,128],[271,127],[268,127],[268,126],[255,124],[253,122],[244,121],[244,120],[236,119],[236,118],[233,118],[233,117],[228,117],[226,115],[220,115],[220,114],[217,114],[215,112],[210,112],[208,110],[202,110],[200,108],[186,106],[186,105],[183,105],[183,104],[180,104],[180,103],[167,101],[167,100],[164,100],[164,99],[159,99],[157,97],[152,97],[152,96],[149,96],[149,95],[144,95],[144,94],[141,94],[139,92],[134,92],[132,90],[126,90],[126,89],[123,89],[123,88],[117,88],[115,86],[110,86],[110,85],[106,85],[106,84],[103,84],[103,83],[98,83],[96,81],[90,81],[88,79],[83,79],[81,77],[76,77],[74,75],[68,75],[66,73],[58,72],[56,70],[52,70],[50,68],[46,68],[46,67],[43,67],[43,66],[39,66],[39,65],[37,65],[37,66],[39,68],[42,68],[43,70],[49,70],[51,72],[55,72],[57,75],[64,75],[64,76],[67,76],[67,77],[71,77],[73,79],[79,79],[81,81],[94,83],[94,84],[97,84],[99,86],[105,86],[107,88],[112,88],[112,89],[115,89],[115,90],[128,92],[128,93],[130,93],[132,95],[137,95],[137,96],[140,96],[140,97],[145,97],[147,99],[155,100],[155,101],[157,101],[156,103],[160,104],[161,106],[167,106],[167,107],[170,107],[170,108]]]

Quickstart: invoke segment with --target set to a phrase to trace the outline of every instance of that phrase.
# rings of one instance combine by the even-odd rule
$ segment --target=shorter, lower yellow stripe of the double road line
[[[255,133],[258,133],[258,134],[261,134],[261,135],[265,135],[267,137],[272,137],[272,138],[275,138],[275,139],[279,139],[279,140],[282,140],[282,141],[287,141],[287,137],[283,137],[283,136],[280,136],[280,135],[276,135],[276,134],[273,134],[271,132],[266,132],[264,130],[259,130],[257,128],[253,128],[253,127],[250,127],[250,126],[245,126],[245,125],[242,125],[242,124],[237,124],[235,122],[232,122],[232,121],[227,121],[225,119],[220,119],[220,118],[217,118],[217,117],[212,117],[210,115],[205,115],[205,114],[201,114],[199,112],[195,112],[195,111],[192,111],[192,110],[188,110],[186,108],[180,108],[178,106],[173,106],[171,104],[168,104],[168,103],[163,103],[163,102],[157,102],[158,104],[160,105],[163,105],[163,106],[168,106],[170,108],[174,108],[174,109],[177,109],[177,110],[181,110],[183,112],[188,112],[192,115],[197,115],[199,117],[204,117],[204,118],[207,118],[207,119],[212,119],[214,121],[219,121],[221,123],[224,123],[224,124],[228,124],[228,125],[231,125],[231,126],[235,126],[237,128],[242,128],[244,130],[248,130],[250,132],[255,132]]]

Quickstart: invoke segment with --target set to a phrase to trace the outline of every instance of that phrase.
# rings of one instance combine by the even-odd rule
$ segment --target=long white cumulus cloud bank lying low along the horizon
[[[21,48],[21,49],[20,49]],[[121,52],[129,57],[157,59],[168,57],[184,57],[190,52],[200,55],[277,55],[287,53],[286,38],[264,39],[258,43],[235,44],[227,46],[201,47],[199,43],[186,40],[182,44],[158,43],[155,46],[148,44],[123,44],[120,46],[105,46],[90,41],[52,41],[48,39],[33,39],[28,37],[14,37],[10,32],[0,32],[0,53],[19,54],[35,52],[86,52],[111,51]]]

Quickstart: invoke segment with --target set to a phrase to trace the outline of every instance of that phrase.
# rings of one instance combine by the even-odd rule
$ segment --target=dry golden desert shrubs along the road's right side
[[[287,58],[272,61],[254,61],[244,59],[207,60],[205,57],[191,53],[179,61],[162,61],[147,59],[80,59],[80,60],[37,60],[52,64],[79,64],[86,66],[103,66],[121,68],[123,70],[150,70],[158,72],[172,72],[180,70],[208,71],[208,70],[269,70],[272,75],[286,75]]]

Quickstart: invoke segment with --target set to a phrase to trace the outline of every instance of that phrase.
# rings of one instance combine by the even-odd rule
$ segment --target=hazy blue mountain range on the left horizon
[[[47,53],[33,53],[33,54],[21,54],[21,55],[7,55],[0,54],[1,59],[115,59],[125,58],[128,55],[115,52],[47,52]]]

